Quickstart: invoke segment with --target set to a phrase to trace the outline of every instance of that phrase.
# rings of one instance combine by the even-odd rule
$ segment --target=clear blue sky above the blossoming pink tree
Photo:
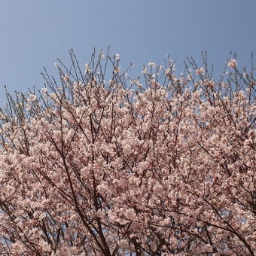
[[[207,50],[216,69],[230,50],[239,67],[256,54],[255,0],[1,0],[0,105],[9,91],[44,87],[44,66],[55,74],[57,58],[69,66],[73,48],[82,66],[93,47],[120,54],[141,74],[149,61],[163,64],[166,53],[182,62]]]

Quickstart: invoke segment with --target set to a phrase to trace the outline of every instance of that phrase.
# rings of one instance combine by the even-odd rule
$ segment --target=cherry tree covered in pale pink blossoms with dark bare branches
[[[215,81],[203,54],[129,78],[119,54],[70,56],[6,93],[0,254],[254,255],[254,66]]]

